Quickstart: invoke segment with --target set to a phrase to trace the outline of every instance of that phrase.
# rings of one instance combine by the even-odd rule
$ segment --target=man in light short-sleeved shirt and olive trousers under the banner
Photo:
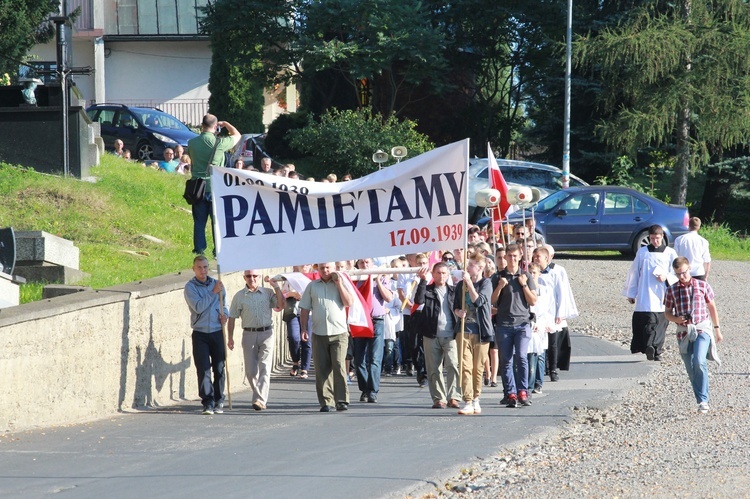
[[[352,306],[355,298],[344,285],[345,277],[334,272],[335,265],[318,264],[320,279],[305,288],[299,303],[302,341],[309,338],[307,320],[312,313],[315,389],[320,412],[330,412],[334,404],[337,411],[349,408],[344,362],[349,344],[345,308]]]

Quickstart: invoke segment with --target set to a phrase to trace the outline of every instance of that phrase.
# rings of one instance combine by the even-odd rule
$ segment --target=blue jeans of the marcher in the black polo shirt
[[[526,355],[529,353],[529,340],[531,328],[528,323],[497,327],[495,344],[500,346],[500,375],[508,394],[528,391],[529,361]]]

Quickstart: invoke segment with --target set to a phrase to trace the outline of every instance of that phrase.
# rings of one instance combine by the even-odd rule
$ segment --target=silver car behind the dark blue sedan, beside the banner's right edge
[[[503,173],[508,186],[522,185],[536,187],[545,198],[553,192],[562,189],[562,170],[550,165],[515,161],[512,159],[497,160],[497,166]],[[585,181],[570,175],[570,187],[589,185]],[[484,208],[476,206],[476,193],[490,187],[489,165],[487,158],[473,158],[469,160],[469,220],[476,221],[484,214]]]

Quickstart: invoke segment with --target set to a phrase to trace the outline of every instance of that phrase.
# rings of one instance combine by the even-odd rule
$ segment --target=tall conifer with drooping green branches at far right
[[[651,1],[579,37],[576,53],[603,82],[599,132],[632,156],[674,147],[672,200],[685,204],[691,167],[750,140],[748,47],[744,0]]]

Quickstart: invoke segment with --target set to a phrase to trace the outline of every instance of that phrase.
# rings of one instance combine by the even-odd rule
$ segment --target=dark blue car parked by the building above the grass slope
[[[133,158],[141,161],[164,158],[164,149],[177,144],[187,147],[198,134],[184,123],[154,107],[129,107],[124,104],[94,104],[86,108],[91,121],[102,129],[104,147],[114,150],[115,140],[122,140]]]

